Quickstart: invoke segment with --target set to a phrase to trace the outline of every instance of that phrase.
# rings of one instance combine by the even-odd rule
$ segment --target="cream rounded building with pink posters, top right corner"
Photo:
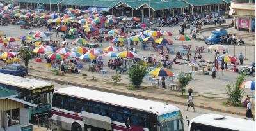
[[[229,15],[238,31],[255,32],[255,0],[231,1]]]

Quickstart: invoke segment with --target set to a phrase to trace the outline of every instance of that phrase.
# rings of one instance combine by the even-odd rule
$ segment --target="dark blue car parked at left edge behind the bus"
[[[10,64],[5,65],[2,69],[0,69],[0,73],[24,77],[28,74],[28,69],[24,65]]]

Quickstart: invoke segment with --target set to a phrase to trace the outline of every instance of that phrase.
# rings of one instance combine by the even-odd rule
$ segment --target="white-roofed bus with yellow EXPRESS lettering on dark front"
[[[27,105],[31,123],[36,123],[36,118],[45,120],[51,117],[51,99],[54,91],[51,83],[0,73],[0,86],[19,93],[19,96],[13,99],[29,103]]]

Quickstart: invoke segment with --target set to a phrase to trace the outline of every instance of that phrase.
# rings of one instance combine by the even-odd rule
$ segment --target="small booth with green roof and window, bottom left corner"
[[[29,125],[27,102],[16,96],[12,90],[0,87],[0,131],[33,130]]]

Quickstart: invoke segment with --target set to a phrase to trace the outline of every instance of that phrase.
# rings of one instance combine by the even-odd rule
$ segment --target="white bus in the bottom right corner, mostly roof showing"
[[[255,131],[255,121],[223,116],[203,114],[190,121],[189,131]]]

